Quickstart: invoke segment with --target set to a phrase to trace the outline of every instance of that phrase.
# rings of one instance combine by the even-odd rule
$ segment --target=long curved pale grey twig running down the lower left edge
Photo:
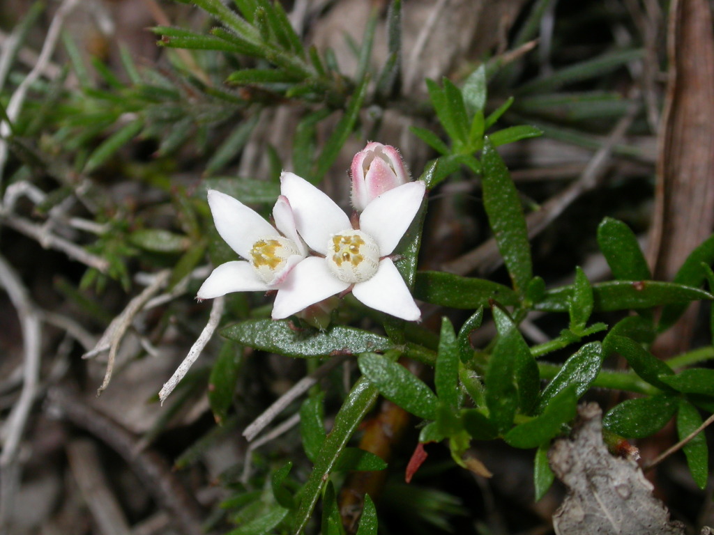
[[[29,292],[22,284],[19,275],[2,256],[0,256],[0,285],[5,288],[17,310],[24,343],[22,390],[10,412],[6,427],[4,427],[3,450],[0,454],[0,486],[2,489],[0,531],[2,531],[1,526],[5,525],[7,514],[12,509],[14,489],[19,484],[21,470],[17,464],[17,453],[39,383],[42,325],[36,307],[29,297]]]

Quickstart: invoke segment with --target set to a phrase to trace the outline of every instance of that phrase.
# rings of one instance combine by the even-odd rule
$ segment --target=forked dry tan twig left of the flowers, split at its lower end
[[[144,291],[134,297],[134,299],[129,301],[129,304],[126,305],[121,314],[111,321],[109,327],[104,331],[104,335],[101,335],[99,342],[96,342],[94,349],[84,354],[83,357],[89,359],[96,357],[96,355],[99,355],[101,352],[109,350],[109,358],[106,362],[106,374],[104,374],[104,381],[101,383],[101,387],[97,390],[97,395],[101,394],[101,392],[109,386],[111,374],[114,372],[116,352],[119,350],[119,343],[124,337],[124,333],[129,329],[131,322],[134,321],[134,317],[144,308],[146,302],[148,302],[151,297],[154,297],[157,292],[161,291],[161,288],[166,285],[166,282],[169,282],[170,276],[171,270],[160,271],[156,275],[154,282],[144,288]]]

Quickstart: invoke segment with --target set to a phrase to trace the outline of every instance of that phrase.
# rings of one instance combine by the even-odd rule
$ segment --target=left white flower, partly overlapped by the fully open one
[[[280,232],[241,201],[220,191],[208,190],[208,206],[218,234],[248,261],[234,260],[216,267],[198,289],[198,299],[229,292],[279,289],[308,253],[298,236],[290,203],[283,195],[273,208]]]

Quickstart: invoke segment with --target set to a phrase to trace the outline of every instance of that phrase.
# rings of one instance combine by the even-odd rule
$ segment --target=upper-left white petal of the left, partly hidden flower
[[[208,206],[218,234],[243,258],[250,258],[256,241],[280,235],[273,225],[231,195],[208,190]]]

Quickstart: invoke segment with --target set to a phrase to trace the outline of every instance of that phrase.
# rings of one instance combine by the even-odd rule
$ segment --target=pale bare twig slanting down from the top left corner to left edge
[[[52,54],[54,54],[54,49],[57,46],[57,41],[59,40],[59,34],[64,24],[65,17],[69,12],[74,9],[74,7],[79,4],[79,0],[64,0],[57,9],[52,22],[47,30],[47,36],[45,38],[44,44],[42,45],[42,50],[40,52],[39,58],[37,58],[37,63],[24,78],[24,80],[17,87],[16,91],[12,94],[10,102],[7,105],[7,116],[10,121],[15,121],[17,116],[22,109],[22,105],[25,101],[25,95],[28,88],[39,78],[41,73],[45,71],[47,65],[49,64]],[[5,162],[7,161],[7,143],[4,138],[10,133],[11,127],[6,121],[0,122],[0,184],[2,183],[3,170],[5,168]]]

